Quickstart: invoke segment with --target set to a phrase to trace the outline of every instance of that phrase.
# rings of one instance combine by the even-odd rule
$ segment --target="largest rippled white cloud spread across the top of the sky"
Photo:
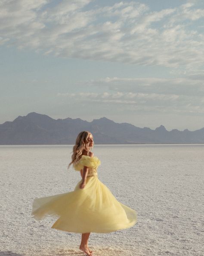
[[[201,70],[204,9],[188,2],[152,12],[143,3],[96,7],[90,0],[3,0],[0,44],[62,58]]]

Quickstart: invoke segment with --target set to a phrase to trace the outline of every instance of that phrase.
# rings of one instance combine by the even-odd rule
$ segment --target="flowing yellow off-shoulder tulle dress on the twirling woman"
[[[86,186],[80,189],[80,180],[72,192],[35,198],[32,218],[42,220],[46,216],[57,216],[52,228],[74,233],[109,233],[136,224],[136,211],[118,202],[99,181],[99,165],[97,157],[83,155],[74,169],[80,171],[83,166],[90,167]]]

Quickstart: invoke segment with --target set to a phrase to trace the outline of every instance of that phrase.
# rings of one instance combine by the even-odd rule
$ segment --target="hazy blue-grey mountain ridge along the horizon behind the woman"
[[[75,144],[77,134],[84,130],[93,134],[95,144],[204,143],[204,128],[167,131],[161,125],[152,130],[105,117],[92,122],[80,118],[56,120],[31,112],[0,125],[0,144]]]

